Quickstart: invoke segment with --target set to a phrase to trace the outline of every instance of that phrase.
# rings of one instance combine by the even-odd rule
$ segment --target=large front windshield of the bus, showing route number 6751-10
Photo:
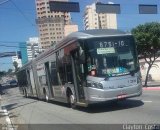
[[[92,76],[119,76],[134,72],[137,55],[132,36],[107,37],[87,40],[88,74]]]

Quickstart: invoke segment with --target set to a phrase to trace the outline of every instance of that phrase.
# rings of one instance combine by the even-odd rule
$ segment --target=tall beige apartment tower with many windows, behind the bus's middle
[[[68,12],[51,12],[49,1],[52,0],[36,0],[36,23],[39,29],[42,49],[47,49],[61,41],[64,38],[64,27],[70,24],[71,20],[70,13]],[[66,2],[68,0],[56,1]]]

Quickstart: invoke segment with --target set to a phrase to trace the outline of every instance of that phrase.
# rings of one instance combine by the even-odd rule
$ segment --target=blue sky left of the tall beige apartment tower
[[[36,12],[34,0],[0,0],[0,45],[18,46],[32,36],[38,36],[35,24]],[[0,53],[16,51],[17,47],[0,46]],[[0,58],[0,71],[12,67],[10,58]]]

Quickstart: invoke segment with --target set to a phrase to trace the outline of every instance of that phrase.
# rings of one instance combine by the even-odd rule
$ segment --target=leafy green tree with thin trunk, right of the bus
[[[149,71],[158,57],[160,57],[160,23],[151,22],[139,25],[132,30],[137,43],[140,57],[148,64],[144,86],[147,86]]]

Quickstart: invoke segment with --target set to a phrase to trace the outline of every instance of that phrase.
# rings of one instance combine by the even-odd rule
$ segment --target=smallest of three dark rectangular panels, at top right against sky
[[[139,5],[140,14],[157,14],[157,5]]]

